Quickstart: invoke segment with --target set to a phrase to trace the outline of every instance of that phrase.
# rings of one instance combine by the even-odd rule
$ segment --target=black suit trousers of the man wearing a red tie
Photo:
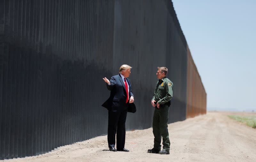
[[[108,147],[124,148],[126,116],[126,111],[108,111]]]

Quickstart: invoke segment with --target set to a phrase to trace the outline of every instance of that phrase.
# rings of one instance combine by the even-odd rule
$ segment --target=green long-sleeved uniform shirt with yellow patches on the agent
[[[155,100],[160,105],[170,101],[173,97],[172,86],[173,83],[167,77],[159,79],[152,100]]]

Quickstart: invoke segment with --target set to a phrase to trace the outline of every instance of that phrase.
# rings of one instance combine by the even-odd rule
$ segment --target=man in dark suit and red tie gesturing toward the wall
[[[125,151],[125,121],[127,112],[135,113],[133,103],[132,85],[127,77],[131,74],[131,66],[122,65],[119,75],[111,77],[110,81],[105,77],[110,90],[110,97],[102,104],[108,109],[108,147],[110,151]],[[116,149],[115,149],[116,143]]]

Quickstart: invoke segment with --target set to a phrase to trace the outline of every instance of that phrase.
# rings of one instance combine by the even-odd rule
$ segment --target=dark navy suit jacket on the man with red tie
[[[129,99],[132,94],[132,85],[130,79],[126,78],[126,81],[129,85]],[[131,113],[136,112],[136,107],[134,103],[125,103],[127,94],[125,90],[125,85],[122,77],[119,75],[115,75],[110,79],[110,85],[107,84],[108,90],[110,90],[110,97],[106,102],[104,102],[101,106],[106,107],[109,111],[113,112],[122,112],[127,111]]]

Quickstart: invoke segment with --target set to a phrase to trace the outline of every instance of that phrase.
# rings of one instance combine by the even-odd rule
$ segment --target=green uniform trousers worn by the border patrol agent
[[[163,150],[170,151],[170,139],[168,133],[169,107],[161,105],[155,109],[153,116],[154,148],[161,150],[161,138],[163,137]]]

